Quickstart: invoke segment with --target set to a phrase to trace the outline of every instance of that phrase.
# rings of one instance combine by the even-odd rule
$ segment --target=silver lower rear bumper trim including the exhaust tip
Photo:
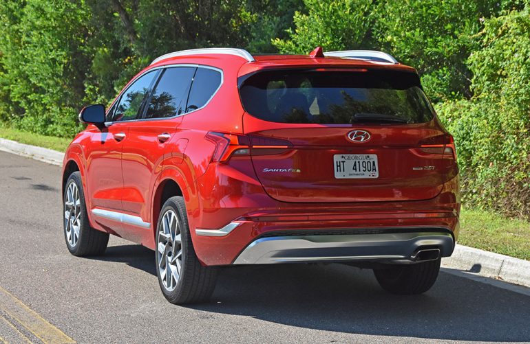
[[[454,238],[446,229],[373,234],[293,235],[258,238],[233,264],[288,262],[420,262],[448,257]],[[428,253],[427,253],[428,252]]]

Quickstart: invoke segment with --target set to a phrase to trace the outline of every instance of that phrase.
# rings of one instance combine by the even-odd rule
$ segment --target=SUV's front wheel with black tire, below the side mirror
[[[66,181],[63,195],[63,232],[66,246],[72,255],[102,255],[107,249],[109,233],[90,227],[79,172],[70,174]]]

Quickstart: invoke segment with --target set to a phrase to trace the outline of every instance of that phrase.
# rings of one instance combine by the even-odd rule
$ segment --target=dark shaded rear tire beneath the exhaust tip
[[[394,265],[390,268],[374,269],[379,285],[392,294],[417,295],[429,290],[440,271],[441,260],[417,264]]]

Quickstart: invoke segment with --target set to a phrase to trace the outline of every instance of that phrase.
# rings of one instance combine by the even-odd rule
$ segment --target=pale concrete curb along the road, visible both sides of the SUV
[[[2,138],[0,150],[53,165],[63,165],[65,155],[56,150],[19,144],[17,141]],[[442,259],[442,267],[530,287],[530,261],[468,246],[456,244],[452,256]]]

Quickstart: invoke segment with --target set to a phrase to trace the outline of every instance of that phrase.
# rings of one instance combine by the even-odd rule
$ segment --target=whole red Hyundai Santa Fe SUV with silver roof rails
[[[380,51],[178,51],[79,117],[67,247],[153,249],[172,303],[208,299],[232,264],[344,262],[418,294],[454,249],[453,138],[416,70]]]

